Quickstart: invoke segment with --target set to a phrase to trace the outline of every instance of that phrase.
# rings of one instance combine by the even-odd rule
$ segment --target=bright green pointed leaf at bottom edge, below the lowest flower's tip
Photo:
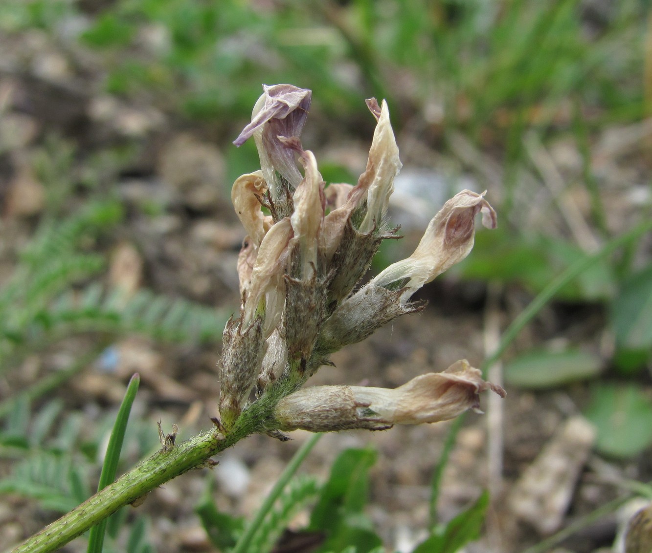
[[[430,535],[413,553],[455,553],[460,550],[479,537],[488,505],[489,493],[484,491],[471,507],[452,518],[442,532]]]

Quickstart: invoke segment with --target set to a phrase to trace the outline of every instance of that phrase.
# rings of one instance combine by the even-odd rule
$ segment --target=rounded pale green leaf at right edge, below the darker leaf
[[[652,443],[652,401],[635,384],[597,384],[585,416],[604,455],[634,457]]]

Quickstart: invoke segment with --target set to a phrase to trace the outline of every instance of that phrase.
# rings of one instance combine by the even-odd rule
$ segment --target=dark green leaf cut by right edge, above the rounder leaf
[[[652,354],[652,263],[623,281],[610,319],[617,365],[625,371],[644,365]]]

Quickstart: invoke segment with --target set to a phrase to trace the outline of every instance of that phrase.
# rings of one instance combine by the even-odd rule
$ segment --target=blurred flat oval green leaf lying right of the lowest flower
[[[591,378],[601,368],[598,356],[578,349],[533,350],[505,365],[505,380],[511,386],[538,390]]]

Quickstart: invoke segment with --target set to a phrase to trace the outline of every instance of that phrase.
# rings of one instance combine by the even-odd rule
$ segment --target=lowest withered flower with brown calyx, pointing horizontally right
[[[367,386],[313,386],[284,397],[274,417],[284,431],[328,432],[344,429],[386,429],[394,424],[434,423],[479,409],[479,393],[500,386],[482,380],[482,373],[461,360],[442,373],[417,376],[394,390]]]

